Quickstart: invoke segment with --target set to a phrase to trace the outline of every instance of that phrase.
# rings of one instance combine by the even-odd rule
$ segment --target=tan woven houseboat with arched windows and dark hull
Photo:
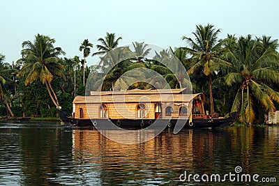
[[[73,100],[73,116],[66,118],[61,114],[61,119],[77,126],[104,128],[111,123],[124,128],[144,128],[155,123],[174,127],[178,121],[183,127],[193,128],[230,125],[235,116],[220,118],[218,114],[206,114],[204,94],[188,94],[186,88],[181,88],[91,91],[89,96],[77,95]]]

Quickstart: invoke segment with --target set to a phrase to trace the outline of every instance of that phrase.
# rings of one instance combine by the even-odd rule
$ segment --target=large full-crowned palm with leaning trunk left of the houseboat
[[[49,36],[38,34],[34,42],[22,42],[22,59],[24,65],[20,70],[18,77],[26,76],[25,86],[31,84],[36,79],[45,84],[52,102],[60,109],[59,102],[52,88],[51,82],[55,76],[66,77],[63,75],[62,65],[59,63],[59,55],[65,54],[60,47],[54,47],[55,40]]]

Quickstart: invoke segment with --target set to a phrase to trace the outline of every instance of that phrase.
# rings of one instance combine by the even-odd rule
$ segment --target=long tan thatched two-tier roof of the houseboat
[[[194,98],[204,101],[203,93],[188,94],[183,89],[133,89],[128,91],[92,91],[89,96],[77,95],[75,104],[128,103],[128,102],[190,102]]]

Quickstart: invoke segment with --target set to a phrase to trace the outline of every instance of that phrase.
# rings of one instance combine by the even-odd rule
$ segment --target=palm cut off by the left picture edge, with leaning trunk
[[[5,71],[8,70],[7,68],[5,68],[5,64],[3,63],[5,59],[5,56],[3,56],[2,54],[0,54],[0,98],[1,100],[3,100],[6,104],[6,107],[8,109],[8,111],[10,112],[10,116],[14,116],[13,115],[13,111],[10,109],[10,106],[7,102],[7,96],[8,96],[8,91],[6,90],[4,84],[13,84],[13,81],[11,79],[9,79],[8,77],[6,77],[5,75]]]

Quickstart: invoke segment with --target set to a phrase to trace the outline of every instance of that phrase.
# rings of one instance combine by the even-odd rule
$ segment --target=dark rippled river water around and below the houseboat
[[[0,124],[0,185],[204,185],[186,174],[259,174],[279,182],[279,127],[165,130],[144,144],[118,144],[97,130]],[[183,175],[182,175],[183,176]],[[236,177],[236,176],[235,176]],[[184,178],[184,177],[181,177]],[[203,177],[206,178],[206,177]],[[213,180],[214,181],[214,180]],[[216,185],[215,182],[206,185]],[[226,185],[263,185],[229,178]],[[265,183],[266,184],[266,183]],[[219,183],[217,185],[224,185]]]

